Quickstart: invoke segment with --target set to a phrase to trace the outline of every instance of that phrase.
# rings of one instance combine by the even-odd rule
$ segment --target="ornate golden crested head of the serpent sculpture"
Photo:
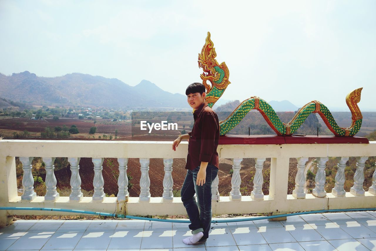
[[[208,32],[205,45],[202,47],[202,51],[199,54],[198,60],[199,68],[203,69],[203,73],[200,75],[200,77],[202,79],[203,85],[206,88],[207,94],[214,88],[214,86],[219,90],[224,90],[230,84],[230,73],[229,69],[226,66],[226,63],[222,62],[221,64],[218,64],[217,60],[215,60],[215,57],[217,57],[217,54],[215,53],[213,42],[210,39],[210,32]],[[211,86],[207,83],[208,80],[210,81]],[[220,96],[216,96],[216,99],[218,99],[219,97]]]

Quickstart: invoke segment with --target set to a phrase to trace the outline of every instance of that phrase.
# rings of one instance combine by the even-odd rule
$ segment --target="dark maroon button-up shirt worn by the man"
[[[203,103],[193,113],[194,124],[188,142],[188,156],[185,169],[193,170],[201,162],[209,162],[219,169],[218,141],[219,121],[217,114]]]

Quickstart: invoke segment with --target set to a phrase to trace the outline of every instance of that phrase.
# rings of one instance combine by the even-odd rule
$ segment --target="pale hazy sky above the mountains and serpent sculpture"
[[[223,99],[317,99],[375,111],[376,1],[0,0],[0,72],[146,79],[185,94],[201,82],[206,32],[231,84]]]

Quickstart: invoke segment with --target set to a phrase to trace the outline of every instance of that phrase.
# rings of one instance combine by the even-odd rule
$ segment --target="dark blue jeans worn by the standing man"
[[[196,185],[197,173],[200,167],[193,170],[187,170],[185,180],[180,191],[183,205],[187,211],[191,224],[188,226],[192,230],[192,234],[203,232],[203,237],[200,240],[205,240],[209,237],[209,230],[212,218],[211,211],[211,184],[215,177],[217,177],[218,168],[215,165],[208,164],[206,167],[206,179],[204,185]],[[196,193],[198,206],[194,199]],[[199,213],[200,209],[200,213]]]

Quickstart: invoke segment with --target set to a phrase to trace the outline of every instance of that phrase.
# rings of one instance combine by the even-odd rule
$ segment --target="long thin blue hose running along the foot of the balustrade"
[[[153,221],[176,222],[176,223],[191,223],[190,220],[170,220],[170,219],[146,218],[146,217],[124,215],[124,214],[114,214],[114,213],[111,214],[111,213],[101,213],[101,212],[83,211],[83,210],[74,210],[74,209],[62,209],[62,208],[0,207],[0,210],[60,211],[60,212],[70,212],[70,213],[96,214],[96,215],[100,215],[100,216],[111,216],[111,217],[115,217],[115,218],[128,218],[128,219],[138,219],[138,220],[153,220]],[[347,212],[347,211],[376,211],[376,208],[327,209],[327,210],[306,211],[306,212],[291,213],[291,214],[278,214],[278,215],[264,216],[264,217],[250,217],[250,218],[246,218],[246,219],[212,220],[211,223],[241,222],[241,221],[249,221],[249,220],[264,220],[264,219],[273,219],[273,218],[293,216],[293,215],[300,215],[300,214],[328,213],[328,212]]]

